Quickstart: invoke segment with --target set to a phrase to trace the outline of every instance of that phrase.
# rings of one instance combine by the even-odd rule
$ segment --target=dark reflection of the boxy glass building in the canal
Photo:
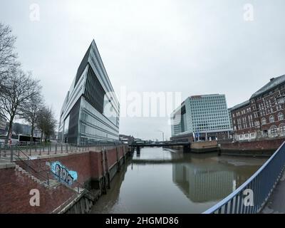
[[[252,173],[258,167],[252,167]],[[234,165],[199,162],[172,164],[172,181],[192,202],[213,202],[227,197],[242,185],[249,174]]]

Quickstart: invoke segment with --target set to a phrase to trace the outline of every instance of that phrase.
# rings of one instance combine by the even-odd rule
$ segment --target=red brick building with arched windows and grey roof
[[[235,140],[285,135],[285,75],[271,78],[249,100],[230,108]]]

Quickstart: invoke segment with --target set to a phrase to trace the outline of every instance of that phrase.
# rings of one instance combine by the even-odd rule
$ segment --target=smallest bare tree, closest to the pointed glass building
[[[43,106],[39,111],[37,121],[37,127],[39,130],[41,130],[41,140],[43,140],[43,135],[44,141],[46,142],[48,140],[51,134],[54,133],[56,123],[57,121],[53,116],[53,111],[51,108]]]

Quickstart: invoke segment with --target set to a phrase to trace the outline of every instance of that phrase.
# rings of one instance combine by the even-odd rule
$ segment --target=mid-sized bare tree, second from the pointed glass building
[[[27,100],[24,105],[21,105],[21,114],[20,117],[24,119],[26,123],[31,125],[31,142],[33,141],[33,131],[38,122],[38,116],[43,107],[43,97],[40,94],[40,91],[35,95],[32,95],[30,99]]]

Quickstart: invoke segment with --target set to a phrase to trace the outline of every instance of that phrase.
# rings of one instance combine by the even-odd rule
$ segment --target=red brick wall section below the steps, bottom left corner
[[[1,169],[0,180],[0,213],[51,213],[70,197],[76,196],[76,192],[65,185],[47,188],[14,168]],[[39,207],[30,205],[32,189],[39,190]]]

